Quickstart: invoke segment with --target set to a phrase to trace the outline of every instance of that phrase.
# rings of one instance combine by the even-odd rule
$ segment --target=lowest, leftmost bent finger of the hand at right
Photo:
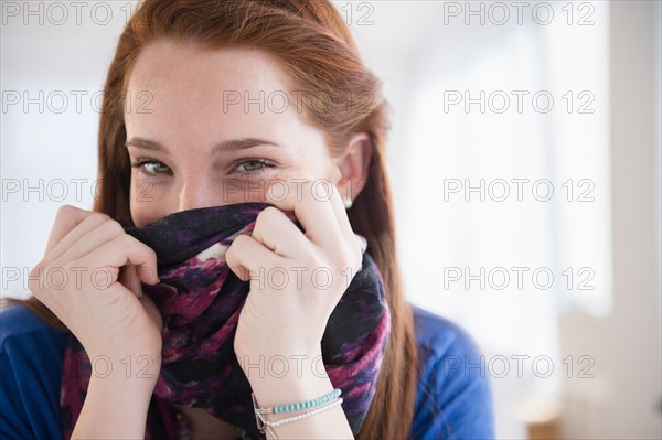
[[[229,269],[243,281],[259,275],[260,268],[276,267],[280,259],[255,238],[238,235],[225,253],[225,261]]]

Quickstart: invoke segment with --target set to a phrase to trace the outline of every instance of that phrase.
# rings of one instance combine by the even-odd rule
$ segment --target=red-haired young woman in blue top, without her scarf
[[[2,312],[2,438],[60,438],[72,430],[73,438],[248,438],[232,417],[218,416],[224,408],[211,410],[200,399],[191,405],[177,386],[168,389],[169,403],[159,399],[160,417],[150,416],[170,341],[166,307],[142,290],[162,281],[161,256],[122,226],[255,202],[273,206],[259,212],[250,233],[235,237],[225,258],[236,277],[250,281],[233,346],[252,410],[259,412],[255,423],[267,437],[493,437],[489,380],[477,368],[472,340],[405,301],[385,165],[387,104],[330,3],[146,0],[120,37],[104,97],[102,196],[93,212],[60,210],[31,272],[34,297]],[[327,355],[327,325],[351,289],[340,280],[366,260],[378,268],[375,286],[383,286],[386,302],[388,332],[370,333],[387,335],[366,369],[378,374],[345,378],[350,388],[341,396],[331,372],[250,374],[260,356]],[[335,281],[323,289],[307,277],[279,289],[256,281],[260,270],[282,267],[324,268]],[[53,268],[70,282],[54,288]],[[75,277],[99,268],[110,278],[103,287]],[[361,326],[341,324],[335,328]],[[70,335],[89,359],[115,366],[92,375],[73,418],[63,412],[75,391],[68,384],[78,379],[66,366]],[[378,347],[371,337],[363,344]],[[127,359],[137,358],[147,374],[124,374]],[[274,414],[295,403],[282,417]],[[348,403],[365,410],[351,416],[355,407]],[[163,407],[179,422],[169,423]]]

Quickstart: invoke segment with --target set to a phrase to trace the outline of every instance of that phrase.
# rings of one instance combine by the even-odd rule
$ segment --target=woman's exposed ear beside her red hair
[[[338,159],[335,186],[343,200],[356,200],[367,180],[367,169],[372,158],[373,144],[366,132],[354,135],[346,151]]]

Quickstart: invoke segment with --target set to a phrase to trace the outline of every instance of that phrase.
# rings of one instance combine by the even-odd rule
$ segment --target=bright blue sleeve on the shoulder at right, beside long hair
[[[494,439],[492,390],[484,356],[455,323],[419,320],[419,380],[412,439]]]

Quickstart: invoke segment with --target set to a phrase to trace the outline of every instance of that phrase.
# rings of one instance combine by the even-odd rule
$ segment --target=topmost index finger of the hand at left
[[[64,205],[57,211],[53,228],[49,236],[44,261],[53,261],[64,254],[83,235],[110,218],[103,213],[79,210]]]

